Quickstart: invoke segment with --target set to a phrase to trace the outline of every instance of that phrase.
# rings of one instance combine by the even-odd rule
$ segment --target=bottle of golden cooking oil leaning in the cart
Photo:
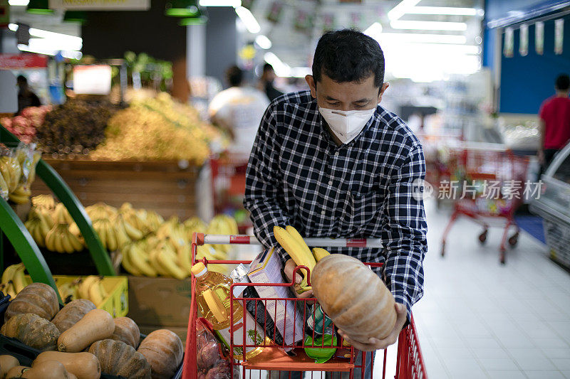
[[[243,346],[245,348],[245,356],[247,359],[257,356],[263,347],[254,347],[259,345],[271,345],[271,339],[263,336],[263,329],[257,325],[256,321],[249,312],[244,311],[242,304],[234,299],[232,309],[230,309],[230,287],[232,279],[215,271],[208,271],[207,267],[199,262],[192,266],[192,274],[196,277],[196,295],[200,314],[214,326],[220,341],[229,348],[231,333],[234,334],[234,358],[243,359]],[[233,310],[234,325],[232,328],[230,314]],[[245,333],[242,328],[246,320],[247,331]]]

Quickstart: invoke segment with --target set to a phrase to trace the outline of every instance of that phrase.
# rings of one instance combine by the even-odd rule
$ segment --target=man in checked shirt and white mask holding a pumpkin
[[[277,246],[274,225],[293,225],[306,237],[382,238],[383,250],[330,249],[384,262],[377,273],[397,302],[398,319],[387,338],[358,343],[339,331],[361,351],[396,341],[422,297],[427,250],[423,201],[414,193],[425,176],[422,146],[400,118],[378,105],[388,88],[383,80],[378,42],[353,30],[326,33],[313,75],[306,77],[311,90],[271,102],[246,174],[244,205],[266,247]],[[279,252],[291,277],[295,264]]]

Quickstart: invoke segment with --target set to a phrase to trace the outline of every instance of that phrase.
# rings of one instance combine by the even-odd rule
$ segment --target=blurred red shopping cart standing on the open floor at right
[[[482,244],[487,240],[490,226],[504,227],[499,245],[500,261],[504,264],[509,230],[515,230],[508,237],[510,246],[517,245],[519,238],[514,212],[524,200],[529,159],[490,144],[464,145],[450,149],[448,154],[450,181],[440,182],[438,197],[449,196],[455,202],[443,232],[441,255],[445,255],[445,241],[452,225],[460,215],[465,215],[482,225],[483,231],[479,235]]]

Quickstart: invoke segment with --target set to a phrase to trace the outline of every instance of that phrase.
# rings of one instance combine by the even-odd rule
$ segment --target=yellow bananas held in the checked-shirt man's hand
[[[285,249],[287,254],[295,261],[298,266],[306,266],[309,270],[313,270],[316,265],[315,257],[309,246],[305,243],[305,240],[299,232],[292,227],[287,225],[286,228],[281,228],[277,225],[273,227],[273,234],[279,245]],[[300,284],[300,289],[297,292],[302,293],[309,291],[311,287],[307,285],[307,272],[306,269],[301,270],[304,274],[304,278]]]

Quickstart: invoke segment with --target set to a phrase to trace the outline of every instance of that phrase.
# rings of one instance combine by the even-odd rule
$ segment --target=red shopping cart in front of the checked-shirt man
[[[381,247],[382,244],[380,243],[379,239],[329,239],[329,238],[306,238],[305,241],[309,246],[323,246],[323,247]],[[260,245],[259,241],[252,236],[248,235],[204,235],[201,233],[194,233],[192,237],[192,263],[195,262],[195,253],[196,247],[198,245],[204,244],[242,244],[242,245]],[[240,263],[249,264],[250,261],[207,261],[203,259],[205,265],[208,263],[222,263],[222,264],[230,264],[230,265],[239,265]],[[378,263],[368,263],[367,265],[380,267],[382,264]],[[295,271],[298,269],[306,269],[309,272],[309,282],[310,282],[310,270],[305,266],[296,267]],[[183,379],[195,379],[197,378],[197,348],[196,348],[196,321],[197,321],[197,299],[195,297],[195,286],[196,286],[196,279],[192,275],[192,302],[190,307],[190,320],[188,323],[188,334],[187,334],[187,341],[186,341],[186,349],[185,349],[185,361],[184,361],[184,372],[182,374]],[[275,286],[275,287],[293,287],[293,283],[273,283],[273,284],[261,284],[261,283],[234,283],[232,284],[232,290],[230,291],[230,314],[231,320],[230,324],[234,325],[233,319],[233,309],[234,301],[237,301],[238,304],[241,304],[243,309],[246,309],[246,301],[255,301],[255,309],[256,314],[254,315],[254,319],[258,319],[257,315],[257,302],[261,301],[264,304],[264,308],[268,313],[271,314],[272,311],[276,312],[276,305],[275,309],[272,306],[271,302],[277,304],[277,301],[293,301],[295,310],[303,309],[303,335],[306,336],[307,334],[311,334],[314,338],[315,331],[309,331],[306,329],[306,316],[310,316],[311,314],[307,314],[307,307],[306,305],[313,305],[316,302],[316,299],[296,299],[296,298],[243,298],[243,297],[234,297],[234,287],[257,287],[257,286]],[[268,306],[268,301],[270,305]],[[299,308],[297,308],[299,307]],[[315,314],[313,314],[315,316]],[[246,322],[246,318],[244,317],[240,322]],[[255,326],[255,331],[257,329],[257,325]],[[325,326],[323,324],[322,334],[327,333],[324,330]],[[247,326],[243,326],[243,333],[245,341],[245,331]],[[332,330],[334,330],[334,325],[332,325]],[[274,329],[274,332],[276,329]],[[261,331],[259,331],[261,333]],[[259,355],[255,356],[254,358],[244,358],[243,361],[233,361],[232,365],[234,367],[239,368],[239,372],[242,378],[264,378],[262,375],[263,371],[268,371],[269,375],[271,373],[278,373],[278,377],[281,378],[291,378],[291,372],[305,372],[309,373],[310,378],[314,378],[313,374],[315,374],[315,378],[321,378],[323,372],[333,372],[335,373],[333,378],[338,378],[340,374],[338,372],[348,373],[349,378],[353,378],[355,373],[360,370],[361,378],[364,379],[364,367],[366,366],[366,355],[363,354],[363,359],[360,362],[356,361],[356,356],[358,351],[353,347],[343,346],[342,338],[338,338],[336,344],[331,342],[330,344],[327,343],[325,345],[324,339],[323,342],[320,344],[311,344],[311,345],[287,345],[285,342],[281,343],[279,346],[276,344],[266,344],[265,343],[265,336],[266,336],[266,326],[263,328],[264,336],[263,338],[259,338],[260,341],[264,341],[262,343],[248,345],[246,343],[237,344],[234,343],[234,336],[232,335],[231,341],[229,342],[229,356],[234,356],[234,351],[239,349],[240,351],[246,351],[246,348],[256,348],[256,347],[263,347],[264,350],[259,353]],[[295,333],[295,331],[293,332]],[[274,333],[275,334],[275,333]],[[335,357],[326,363],[315,363],[315,361],[304,353],[303,348],[314,348],[314,347],[330,347],[336,348],[337,353]],[[284,348],[296,348],[296,356],[289,356],[284,353]],[[400,332],[400,336],[398,338],[398,353],[396,356],[396,368],[395,368],[395,379],[423,379],[427,378],[425,372],[425,364],[423,361],[422,352],[420,349],[420,343],[418,340],[418,333],[415,329],[415,324],[413,318],[410,320],[410,324]],[[378,351],[378,353],[383,353],[383,368],[382,368],[382,378],[386,378],[386,364],[387,364],[387,355],[386,350]],[[373,366],[373,362],[372,362]],[[315,373],[318,372],[318,373]],[[371,370],[371,377],[373,377],[373,367]],[[234,370],[232,370],[232,378],[234,378]],[[236,378],[239,379],[239,378]]]

